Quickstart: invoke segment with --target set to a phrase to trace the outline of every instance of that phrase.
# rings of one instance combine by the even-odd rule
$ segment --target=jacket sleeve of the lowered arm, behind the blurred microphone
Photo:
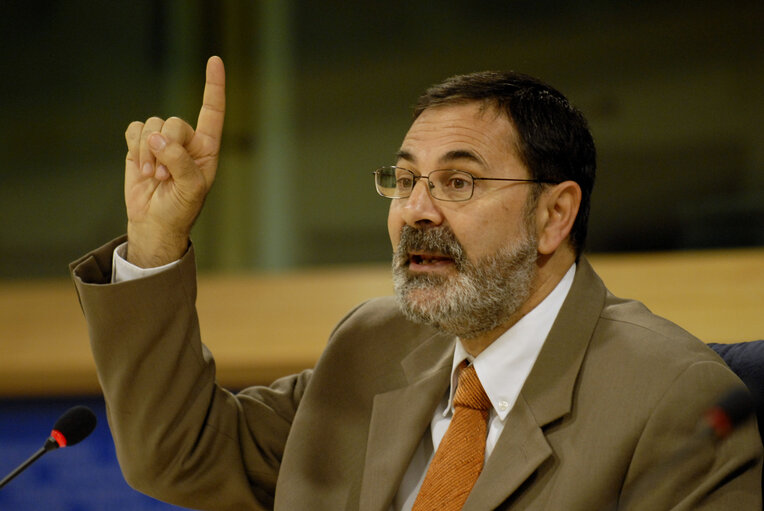
[[[728,437],[700,432],[709,399],[743,387],[721,363],[687,367],[655,405],[637,448],[618,509],[759,510],[762,446],[751,417]]]

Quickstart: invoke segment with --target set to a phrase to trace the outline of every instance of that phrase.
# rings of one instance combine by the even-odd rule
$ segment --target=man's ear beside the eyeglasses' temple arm
[[[575,181],[544,190],[536,208],[539,253],[552,254],[568,239],[580,205],[581,187]]]

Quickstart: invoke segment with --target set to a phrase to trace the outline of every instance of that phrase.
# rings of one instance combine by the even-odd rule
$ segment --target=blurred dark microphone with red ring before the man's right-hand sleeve
[[[735,428],[753,415],[755,408],[754,400],[747,388],[735,387],[728,391],[715,405],[703,413],[695,434],[691,435],[669,458],[638,476],[631,488],[623,492],[620,497],[616,497],[602,510],[616,511],[620,506],[631,503],[636,495],[660,484],[664,476],[674,470],[679,463],[689,459],[703,445],[728,437]]]

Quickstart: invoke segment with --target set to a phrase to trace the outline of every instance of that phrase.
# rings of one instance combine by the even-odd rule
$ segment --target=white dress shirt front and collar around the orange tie
[[[507,415],[517,401],[520,390],[562,308],[562,303],[568,296],[575,272],[574,264],[540,304],[477,357],[469,355],[461,341],[456,340],[448,394],[443,397],[443,401],[435,410],[430,423],[430,435],[424,435],[411,459],[393,500],[391,511],[410,511],[414,505],[430,461],[451,423],[454,391],[458,378],[457,368],[464,360],[474,364],[480,383],[493,405],[488,418],[488,435],[485,445],[485,459],[488,459],[504,430]]]

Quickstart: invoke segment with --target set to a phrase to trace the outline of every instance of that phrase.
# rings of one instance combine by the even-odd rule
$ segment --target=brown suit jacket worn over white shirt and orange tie
[[[313,370],[234,395],[200,340],[192,251],[105,285],[117,241],[72,273],[131,485],[199,509],[388,510],[448,388],[453,338],[371,300]],[[612,296],[582,259],[464,509],[759,510],[753,422],[661,468],[735,385],[703,343]]]

